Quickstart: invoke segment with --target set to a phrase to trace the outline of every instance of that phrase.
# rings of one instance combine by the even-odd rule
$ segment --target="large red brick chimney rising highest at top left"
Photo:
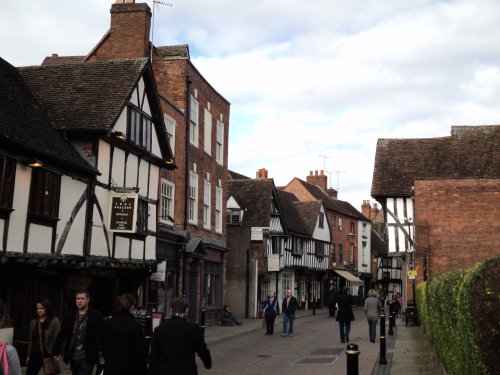
[[[111,6],[111,27],[86,60],[148,57],[151,8],[135,0],[116,0]]]

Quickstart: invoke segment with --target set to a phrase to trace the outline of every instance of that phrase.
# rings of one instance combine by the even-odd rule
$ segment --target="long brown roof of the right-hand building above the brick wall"
[[[500,125],[452,126],[451,136],[379,139],[371,195],[412,196],[415,180],[500,178]]]

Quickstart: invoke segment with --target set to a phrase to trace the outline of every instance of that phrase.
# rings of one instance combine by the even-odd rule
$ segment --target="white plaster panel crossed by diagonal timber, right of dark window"
[[[68,176],[61,177],[61,198],[59,203],[59,221],[57,223],[56,248],[64,228],[71,217],[71,212],[76,203],[85,194],[87,185]],[[78,211],[71,225],[68,237],[64,243],[62,254],[83,255],[83,239],[85,235],[85,210],[87,200]]]

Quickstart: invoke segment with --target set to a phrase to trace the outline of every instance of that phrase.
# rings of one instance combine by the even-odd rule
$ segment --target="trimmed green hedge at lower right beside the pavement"
[[[500,255],[417,286],[425,334],[450,375],[500,374]]]

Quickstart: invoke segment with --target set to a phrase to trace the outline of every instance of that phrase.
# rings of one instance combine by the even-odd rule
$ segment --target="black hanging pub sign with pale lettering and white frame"
[[[111,193],[108,228],[112,232],[135,233],[138,194]]]

